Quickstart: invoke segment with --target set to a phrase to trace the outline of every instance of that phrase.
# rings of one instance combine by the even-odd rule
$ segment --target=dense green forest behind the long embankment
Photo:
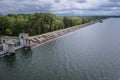
[[[75,25],[103,19],[105,17],[56,16],[51,13],[0,14],[0,36],[18,36],[19,33],[39,35]]]

